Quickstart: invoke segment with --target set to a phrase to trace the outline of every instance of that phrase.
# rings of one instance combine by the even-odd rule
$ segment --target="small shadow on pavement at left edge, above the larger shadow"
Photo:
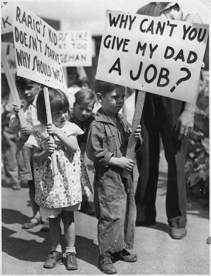
[[[29,219],[28,216],[22,214],[20,211],[12,209],[1,209],[1,220],[5,224],[19,223],[23,224]]]

